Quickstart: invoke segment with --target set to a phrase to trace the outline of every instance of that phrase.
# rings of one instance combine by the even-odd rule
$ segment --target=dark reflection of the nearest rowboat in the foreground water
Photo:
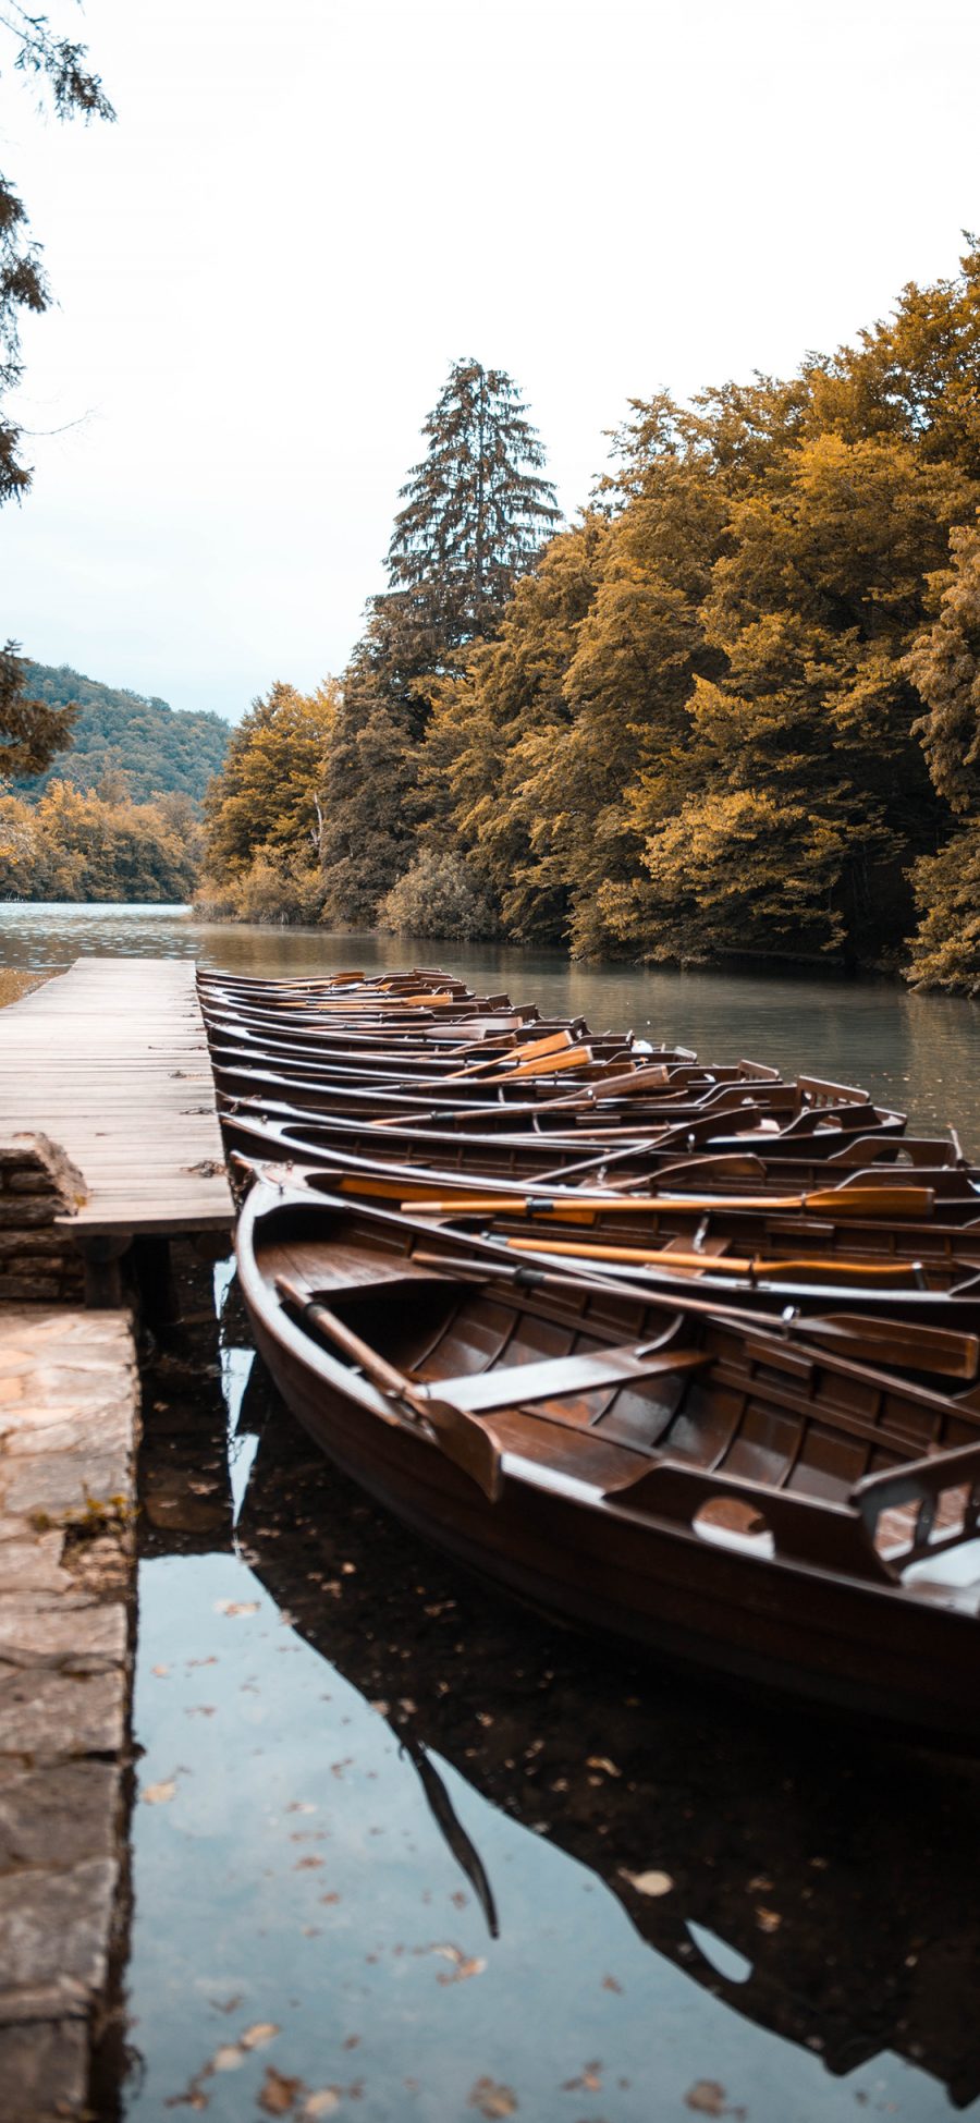
[[[509,1605],[369,1505],[263,1378],[257,1365],[244,1554],[392,1724],[490,1934],[494,1883],[443,1764],[590,1866],[649,1947],[827,2072],[891,2051],[952,2106],[976,2100],[980,1771],[679,1684]]]

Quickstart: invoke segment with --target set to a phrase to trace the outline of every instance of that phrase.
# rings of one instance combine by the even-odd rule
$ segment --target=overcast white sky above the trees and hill
[[[53,19],[78,34],[68,0]],[[976,0],[89,0],[115,127],[0,168],[59,308],[0,635],[238,718],[339,671],[452,359],[562,507],[666,384],[791,372],[980,225]]]

